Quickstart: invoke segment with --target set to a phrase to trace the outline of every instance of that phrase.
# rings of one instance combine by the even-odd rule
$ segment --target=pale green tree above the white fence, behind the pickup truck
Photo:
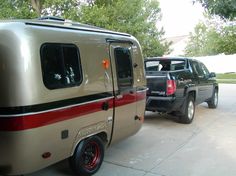
[[[185,49],[187,56],[236,53],[236,25],[199,23]]]

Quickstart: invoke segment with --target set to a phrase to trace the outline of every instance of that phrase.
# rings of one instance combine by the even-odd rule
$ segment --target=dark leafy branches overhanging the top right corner
[[[236,1],[235,0],[194,0],[202,4],[202,6],[212,15],[219,15],[223,19],[234,20],[236,17]]]

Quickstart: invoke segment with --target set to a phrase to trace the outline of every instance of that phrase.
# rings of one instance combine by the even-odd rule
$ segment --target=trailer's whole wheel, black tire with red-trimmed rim
[[[78,176],[90,176],[96,173],[104,158],[104,144],[98,136],[81,141],[69,158],[73,172]]]

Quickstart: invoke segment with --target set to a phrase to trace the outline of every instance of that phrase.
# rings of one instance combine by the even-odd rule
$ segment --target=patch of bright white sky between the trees
[[[188,35],[199,20],[203,20],[203,8],[192,0],[159,0],[162,11],[161,23],[165,37]]]

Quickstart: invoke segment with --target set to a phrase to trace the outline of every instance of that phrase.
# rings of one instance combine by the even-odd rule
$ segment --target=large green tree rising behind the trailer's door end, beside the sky
[[[144,56],[161,56],[169,51],[170,43],[158,30],[159,3],[156,0],[96,0],[83,6],[79,21],[135,36],[141,43]]]

